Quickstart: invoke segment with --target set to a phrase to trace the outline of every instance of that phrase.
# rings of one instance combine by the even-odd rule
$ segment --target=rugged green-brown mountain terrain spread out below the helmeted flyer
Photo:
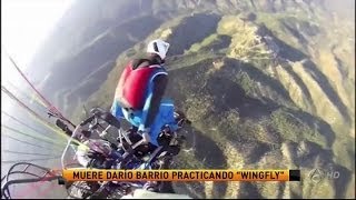
[[[171,43],[169,88],[194,121],[176,168],[300,169],[301,182],[175,183],[195,198],[355,198],[355,2],[78,1],[32,66],[78,122],[109,109],[146,43]],[[55,91],[55,92],[53,92]],[[314,169],[339,172],[314,182]]]

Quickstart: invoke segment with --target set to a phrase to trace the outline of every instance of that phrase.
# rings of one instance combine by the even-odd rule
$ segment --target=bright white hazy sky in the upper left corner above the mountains
[[[21,68],[34,52],[73,0],[1,0],[1,48]]]

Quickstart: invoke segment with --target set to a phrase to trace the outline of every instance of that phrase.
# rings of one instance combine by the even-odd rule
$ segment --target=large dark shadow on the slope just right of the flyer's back
[[[270,89],[279,94],[280,99],[291,102],[288,92],[283,86],[259,69],[248,63],[240,63],[234,59],[225,59],[221,70],[206,74],[212,68],[212,59],[206,59],[201,62],[187,68],[179,68],[170,71],[170,81],[167,96],[171,97],[182,107],[185,100],[191,96],[212,97],[214,107],[218,112],[230,109],[238,109],[243,117],[257,118],[260,113],[270,113],[279,107],[278,103],[268,99],[255,99],[246,94],[246,91],[233,81],[241,71],[247,72],[250,79],[261,82],[264,86],[270,86]]]

